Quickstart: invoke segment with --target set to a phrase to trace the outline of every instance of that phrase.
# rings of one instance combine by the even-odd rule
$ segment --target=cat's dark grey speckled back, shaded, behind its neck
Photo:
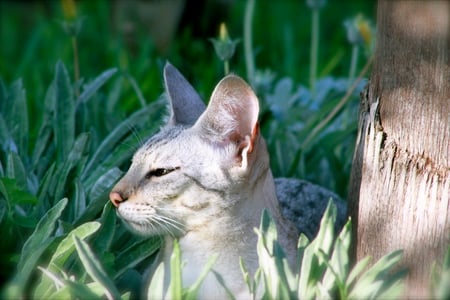
[[[347,204],[326,188],[295,178],[276,178],[275,187],[284,217],[293,222],[298,231],[309,239],[317,234],[330,199],[337,207],[336,229],[344,225]]]

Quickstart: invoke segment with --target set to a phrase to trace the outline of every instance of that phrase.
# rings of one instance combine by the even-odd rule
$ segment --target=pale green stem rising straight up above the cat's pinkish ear
[[[252,45],[252,19],[255,8],[255,0],[248,0],[245,7],[244,16],[244,55],[245,67],[247,69],[247,79],[250,85],[255,84],[255,62],[253,60],[253,45]]]

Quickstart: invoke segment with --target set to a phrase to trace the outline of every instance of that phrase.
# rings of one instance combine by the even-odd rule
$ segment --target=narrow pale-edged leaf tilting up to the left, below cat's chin
[[[119,299],[119,291],[106,274],[100,261],[96,258],[89,245],[76,236],[73,236],[73,239],[75,241],[75,247],[77,249],[78,256],[80,257],[81,263],[85,267],[87,273],[95,282],[105,288],[105,296],[108,299]]]

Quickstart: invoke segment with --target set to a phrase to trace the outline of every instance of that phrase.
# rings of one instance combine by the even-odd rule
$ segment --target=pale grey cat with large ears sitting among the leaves
[[[164,81],[170,117],[134,154],[110,200],[131,231],[164,236],[166,289],[177,239],[186,286],[198,278],[208,258],[218,254],[199,299],[227,297],[214,274],[236,298],[250,299],[239,259],[254,274],[258,268],[254,228],[259,227],[264,209],[275,220],[279,242],[294,266],[299,232],[314,236],[330,197],[338,202],[341,219],[345,206],[333,193],[305,181],[274,181],[258,125],[258,99],[243,79],[223,78],[207,107],[170,63],[164,68]]]

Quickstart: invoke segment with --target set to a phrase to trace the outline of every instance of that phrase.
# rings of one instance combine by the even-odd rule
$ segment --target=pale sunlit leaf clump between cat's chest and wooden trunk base
[[[330,201],[316,238],[310,242],[300,236],[297,267],[290,270],[277,242],[275,223],[267,212],[263,214],[257,231],[260,268],[254,279],[256,285],[262,279],[262,299],[393,299],[401,295],[406,272],[393,268],[402,252],[387,254],[368,269],[369,257],[351,268],[351,221],[336,235],[335,220],[336,207]]]

